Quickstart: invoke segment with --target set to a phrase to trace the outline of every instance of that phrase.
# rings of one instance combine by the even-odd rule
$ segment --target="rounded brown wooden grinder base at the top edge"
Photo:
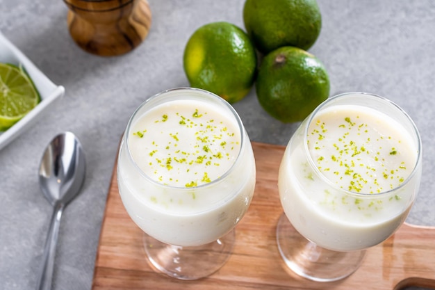
[[[151,10],[147,0],[64,0],[74,41],[91,54],[125,54],[147,37]]]

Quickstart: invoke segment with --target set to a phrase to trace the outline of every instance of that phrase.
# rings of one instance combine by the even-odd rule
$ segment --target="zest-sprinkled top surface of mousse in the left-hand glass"
[[[170,186],[219,179],[237,159],[241,138],[222,111],[193,100],[161,104],[131,127],[131,156],[147,176]]]

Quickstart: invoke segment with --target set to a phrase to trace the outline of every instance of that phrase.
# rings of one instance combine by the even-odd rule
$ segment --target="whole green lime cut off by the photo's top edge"
[[[249,37],[263,54],[284,46],[308,50],[322,27],[315,0],[246,0],[243,20]]]

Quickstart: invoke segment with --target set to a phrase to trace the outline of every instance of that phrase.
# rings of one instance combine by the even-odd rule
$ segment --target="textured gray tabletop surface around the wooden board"
[[[65,209],[54,289],[90,289],[117,145],[134,108],[167,88],[188,86],[182,54],[202,24],[243,27],[243,0],[150,0],[151,32],[130,54],[101,58],[69,37],[63,1],[0,0],[0,30],[56,84],[63,100],[0,152],[0,289],[33,289],[51,207],[38,185],[44,147],[73,131],[86,151],[83,192]],[[310,49],[336,92],[367,91],[396,102],[416,122],[424,147],[421,190],[409,223],[435,225],[435,2],[319,0],[323,25]],[[296,124],[272,120],[254,90],[235,104],[250,138],[285,145]],[[435,257],[428,257],[434,263]],[[434,275],[435,277],[435,275]]]

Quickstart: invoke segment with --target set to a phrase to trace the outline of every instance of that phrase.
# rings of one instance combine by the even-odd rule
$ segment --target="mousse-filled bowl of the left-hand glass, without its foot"
[[[202,245],[247,211],[255,186],[252,146],[221,100],[199,90],[166,94],[180,96],[139,110],[125,133],[120,195],[133,221],[155,239]]]

